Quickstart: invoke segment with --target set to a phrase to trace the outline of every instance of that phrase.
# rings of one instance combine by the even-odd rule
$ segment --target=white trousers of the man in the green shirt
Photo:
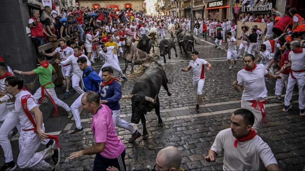
[[[64,108],[67,112],[71,110],[70,107],[65,102],[59,100],[59,98],[56,96],[56,92],[55,92],[54,88],[48,88],[46,90],[47,90],[47,92],[45,91],[45,96],[48,96],[49,98],[51,96],[52,99],[55,101],[56,105]],[[36,100],[36,102],[38,101],[39,98],[41,98],[41,87],[39,87],[36,90],[36,92],[33,96],[34,96],[34,99]]]

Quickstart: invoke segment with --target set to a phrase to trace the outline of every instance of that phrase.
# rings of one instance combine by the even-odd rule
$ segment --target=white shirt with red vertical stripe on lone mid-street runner
[[[192,68],[193,80],[205,79],[204,75],[204,65],[206,65],[206,60],[197,58],[196,61],[190,61],[188,68]]]

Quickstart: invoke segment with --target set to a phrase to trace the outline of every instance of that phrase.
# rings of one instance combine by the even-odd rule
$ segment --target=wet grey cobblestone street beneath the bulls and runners
[[[167,37],[169,36],[166,33]],[[222,170],[223,156],[218,156],[216,162],[206,162],[208,149],[213,144],[216,134],[230,127],[231,114],[241,107],[242,93],[236,92],[232,82],[237,79],[237,72],[244,65],[242,58],[237,61],[237,68],[228,69],[229,64],[226,58],[226,51],[215,49],[211,44],[213,40],[208,38],[203,40],[200,35],[195,37],[198,44],[195,49],[199,51],[199,58],[203,58],[212,64],[210,71],[206,71],[206,79],[203,87],[203,98],[200,111],[196,112],[196,92],[192,88],[192,72],[181,72],[182,67],[187,67],[191,59],[188,59],[184,52],[180,54],[177,45],[178,57],[175,57],[174,50],[171,51],[171,59],[167,58],[164,64],[163,57],[158,62],[169,80],[169,91],[172,96],[167,96],[166,90],[161,87],[159,93],[160,112],[163,119],[163,128],[158,127],[157,116],[153,111],[145,116],[146,127],[149,133],[148,140],[142,140],[142,136],[135,143],[128,143],[131,138],[129,131],[116,128],[119,138],[125,145],[125,163],[127,170],[141,170],[146,165],[156,164],[156,155],[166,146],[177,147],[182,157],[182,168],[185,170]],[[224,46],[224,43],[223,43]],[[152,49],[151,49],[152,52]],[[242,52],[243,53],[243,52]],[[155,47],[155,54],[160,54],[159,48]],[[124,69],[124,59],[120,58],[120,67]],[[93,65],[99,72],[100,63]],[[135,72],[130,73],[131,66],[127,68],[128,81],[120,80],[123,95],[130,94],[137,80],[145,68],[135,65]],[[120,78],[120,74],[115,71],[114,76]],[[303,170],[305,166],[305,117],[300,117],[298,109],[298,91],[295,87],[292,96],[292,108],[289,112],[282,112],[284,103],[272,103],[274,96],[275,81],[266,82],[268,90],[268,103],[266,109],[266,121],[262,123],[258,135],[271,147],[279,167],[282,170]],[[64,87],[56,88],[56,93],[62,99]],[[67,99],[62,99],[69,106],[78,97],[78,94],[70,89],[71,93]],[[283,91],[285,96],[285,88]],[[83,156],[79,159],[69,160],[67,157],[77,150],[88,148],[95,143],[93,134],[88,124],[92,114],[81,113],[81,122],[84,132],[77,135],[69,135],[75,129],[74,118],[68,119],[67,113],[58,107],[59,116],[52,118],[54,107],[50,105],[50,100],[43,103],[40,109],[44,116],[45,132],[59,136],[61,146],[61,159],[57,170],[92,170],[95,155]],[[120,101],[121,118],[130,122],[131,100]],[[142,124],[132,124],[142,134]],[[19,153],[18,137],[11,139],[14,160],[17,160]],[[41,145],[39,150],[44,149]],[[50,159],[47,160],[50,162]],[[51,162],[52,163],[52,162]],[[0,149],[0,165],[4,164],[4,155]],[[265,169],[264,167],[262,168]],[[21,170],[17,168],[17,170]]]

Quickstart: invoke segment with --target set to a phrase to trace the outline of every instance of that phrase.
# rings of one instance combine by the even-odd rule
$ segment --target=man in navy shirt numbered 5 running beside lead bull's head
[[[113,69],[109,66],[102,68],[102,78],[103,82],[98,93],[101,98],[100,103],[106,104],[112,110],[112,118],[115,126],[127,129],[131,132],[132,137],[128,142],[134,142],[141,134],[139,131],[135,130],[131,124],[120,118],[119,101],[122,97],[122,87],[120,83],[116,81],[117,79],[113,79]]]

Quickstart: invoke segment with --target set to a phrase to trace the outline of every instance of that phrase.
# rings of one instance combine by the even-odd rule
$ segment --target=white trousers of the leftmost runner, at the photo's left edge
[[[5,120],[1,123],[0,127],[0,145],[3,149],[5,156],[5,163],[13,161],[13,152],[12,146],[9,142],[9,134],[12,132],[14,127],[17,127],[20,132],[20,123],[15,110],[9,110],[9,113],[6,115]]]

